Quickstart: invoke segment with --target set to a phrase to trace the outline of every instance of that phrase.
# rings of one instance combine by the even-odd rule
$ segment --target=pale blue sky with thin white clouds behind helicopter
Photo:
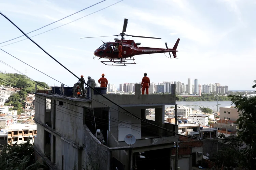
[[[100,1],[1,1],[0,11],[28,33]],[[106,0],[28,35],[53,29],[116,2],[118,0]],[[139,83],[146,72],[154,83],[182,81],[187,84],[191,78],[198,79],[199,84],[220,83],[229,89],[251,90],[256,79],[255,9],[254,0],[123,0],[32,39],[78,77],[83,75],[87,80],[90,75],[98,81],[104,73],[117,88],[119,83]],[[116,37],[80,38],[119,34],[124,18],[128,18],[126,34],[161,38],[126,37],[141,43],[142,47],[165,48],[167,43],[172,48],[180,38],[179,59],[167,58],[163,53],[137,55],[134,56],[137,64],[129,66],[105,66],[100,62],[103,59],[94,60],[93,52],[102,45],[101,40],[114,41]],[[0,25],[0,43],[23,35],[1,15]],[[29,39],[14,43],[25,38],[0,44],[0,48],[68,86],[77,82],[77,78]],[[10,43],[14,44],[8,45]],[[1,50],[0,60],[34,80],[60,85]],[[0,70],[16,72],[2,63]]]

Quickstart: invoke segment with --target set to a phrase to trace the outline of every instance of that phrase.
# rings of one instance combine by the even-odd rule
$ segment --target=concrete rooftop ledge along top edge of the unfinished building
[[[173,87],[174,86],[174,87]],[[109,100],[115,102],[116,104],[126,107],[126,106],[160,106],[160,105],[175,105],[176,95],[175,95],[175,84],[172,84],[171,95],[141,95],[141,85],[135,84],[135,95],[103,95]],[[109,100],[105,99],[101,95],[91,94],[91,100],[84,98],[71,98],[60,95],[47,95],[47,94],[39,94],[45,97],[51,98],[60,98],[60,99],[68,99],[71,101],[81,101],[81,102],[92,102],[94,107],[106,107],[106,105],[113,105]]]

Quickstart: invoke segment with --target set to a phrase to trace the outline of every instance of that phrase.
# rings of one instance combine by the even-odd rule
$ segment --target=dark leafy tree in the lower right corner
[[[229,145],[229,147],[225,147],[225,149],[218,152],[215,163],[219,168],[223,165],[228,168],[255,169],[256,97],[247,98],[242,95],[233,95],[230,98],[232,104],[235,104],[235,108],[238,108],[238,112],[240,112],[236,122],[238,124],[238,137],[232,139],[230,136],[229,138],[224,135],[219,136],[224,139],[223,143]],[[238,147],[242,146],[243,148],[239,150]]]

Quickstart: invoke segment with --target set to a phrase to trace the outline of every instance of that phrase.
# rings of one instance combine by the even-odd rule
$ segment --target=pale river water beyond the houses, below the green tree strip
[[[200,107],[208,107],[213,111],[217,111],[217,101],[195,101],[195,102],[184,102],[184,101],[176,101],[177,105],[184,105],[190,108],[199,109]],[[169,107],[173,105],[166,105],[165,107]],[[218,111],[219,107],[224,106],[234,106],[231,101],[218,101]]]

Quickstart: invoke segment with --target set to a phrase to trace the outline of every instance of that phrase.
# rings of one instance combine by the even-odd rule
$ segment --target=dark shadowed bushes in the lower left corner
[[[34,148],[29,143],[4,147],[0,155],[1,170],[38,170],[44,166],[34,160]]]

